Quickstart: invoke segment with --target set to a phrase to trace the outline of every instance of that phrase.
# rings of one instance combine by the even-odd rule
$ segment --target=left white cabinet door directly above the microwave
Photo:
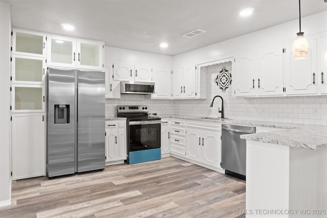
[[[129,61],[113,62],[113,79],[120,81],[134,81],[134,63]]]

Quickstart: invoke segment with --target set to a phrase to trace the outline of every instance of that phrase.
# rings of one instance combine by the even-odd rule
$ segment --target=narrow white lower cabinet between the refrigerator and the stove
[[[126,149],[126,120],[107,121],[106,162],[126,160]]]

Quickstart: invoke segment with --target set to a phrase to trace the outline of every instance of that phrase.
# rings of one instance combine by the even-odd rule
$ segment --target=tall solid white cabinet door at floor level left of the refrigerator
[[[12,179],[45,176],[44,113],[12,114]]]

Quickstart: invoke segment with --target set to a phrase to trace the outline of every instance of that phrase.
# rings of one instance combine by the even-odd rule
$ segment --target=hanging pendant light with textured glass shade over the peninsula
[[[296,34],[296,38],[293,43],[293,57],[294,59],[304,59],[307,58],[308,55],[308,41],[304,36],[304,33],[301,32],[301,3],[298,0],[298,8],[299,8],[299,23],[300,23],[300,31]]]

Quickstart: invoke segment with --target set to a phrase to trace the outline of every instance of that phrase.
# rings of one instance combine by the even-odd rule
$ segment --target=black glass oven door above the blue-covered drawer
[[[129,152],[160,148],[161,120],[130,121]]]

